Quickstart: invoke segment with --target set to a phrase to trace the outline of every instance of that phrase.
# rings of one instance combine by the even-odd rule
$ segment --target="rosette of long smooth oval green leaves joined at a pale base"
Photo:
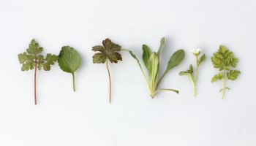
[[[144,79],[146,80],[147,86],[148,86],[148,92],[152,98],[158,93],[159,91],[173,91],[178,93],[177,90],[169,89],[169,88],[160,88],[158,89],[159,83],[163,80],[167,72],[170,71],[170,69],[173,69],[173,67],[178,66],[181,61],[184,59],[184,50],[177,50],[173,55],[170,57],[170,60],[167,64],[167,68],[165,69],[165,72],[162,74],[162,76],[159,78],[159,58],[162,51],[162,46],[165,44],[165,38],[163,37],[160,41],[160,47],[156,52],[152,52],[150,47],[147,45],[142,46],[143,50],[143,63],[146,66],[146,70],[148,72],[148,77],[146,77],[145,72],[143,71],[142,66],[140,65],[140,61],[136,57],[134,53],[132,53],[131,50],[125,50],[132,55],[133,58],[138,63],[138,66],[140,67],[140,70],[143,74]]]

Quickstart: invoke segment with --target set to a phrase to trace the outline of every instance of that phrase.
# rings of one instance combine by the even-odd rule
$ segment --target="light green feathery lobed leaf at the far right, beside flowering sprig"
[[[225,90],[230,90],[230,88],[226,86],[226,80],[236,80],[238,75],[241,74],[238,70],[232,70],[232,68],[236,67],[238,58],[235,58],[233,52],[227,50],[227,47],[220,45],[219,50],[211,57],[211,62],[214,68],[220,71],[219,74],[214,75],[211,82],[223,80],[223,87],[220,92],[222,92],[222,99],[224,99]]]

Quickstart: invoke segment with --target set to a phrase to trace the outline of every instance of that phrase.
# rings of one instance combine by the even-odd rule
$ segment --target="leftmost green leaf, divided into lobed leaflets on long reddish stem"
[[[37,105],[37,69],[50,70],[50,65],[53,65],[57,60],[57,55],[47,54],[44,58],[42,53],[43,48],[39,47],[38,43],[32,39],[29,48],[26,52],[18,54],[18,60],[22,64],[21,71],[34,69],[34,104]]]

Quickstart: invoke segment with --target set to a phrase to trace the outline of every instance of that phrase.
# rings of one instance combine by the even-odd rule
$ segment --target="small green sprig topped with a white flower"
[[[187,77],[189,77],[189,80],[190,80],[190,82],[192,83],[192,87],[193,87],[193,96],[195,97],[195,96],[196,96],[195,82],[197,81],[198,67],[200,66],[200,64],[202,64],[203,61],[206,60],[206,55],[203,54],[203,55],[201,55],[201,57],[199,58],[199,55],[200,55],[200,53],[201,53],[200,48],[197,48],[197,49],[195,49],[195,50],[192,50],[192,53],[195,55],[195,61],[196,61],[194,77],[193,77],[194,69],[193,69],[192,64],[190,64],[189,70],[180,72],[179,74],[180,74],[180,75],[187,75]]]

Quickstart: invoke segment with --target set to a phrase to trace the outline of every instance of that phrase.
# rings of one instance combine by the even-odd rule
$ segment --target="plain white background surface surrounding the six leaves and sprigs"
[[[0,1],[0,145],[3,146],[253,146],[256,145],[255,34],[253,0],[8,0]],[[135,60],[110,64],[113,102],[108,104],[105,64],[92,64],[91,47],[109,37],[141,58],[141,46],[157,51],[165,37],[161,73],[170,55],[184,49],[186,58],[160,87],[173,92],[148,95]],[[21,72],[18,53],[34,38],[44,53],[74,47],[82,62],[72,91],[72,75],[58,65],[37,78]],[[239,58],[241,76],[228,81],[225,99],[211,83],[217,74],[211,55],[226,45]],[[178,72],[195,64],[190,52],[203,48],[197,97]]]

